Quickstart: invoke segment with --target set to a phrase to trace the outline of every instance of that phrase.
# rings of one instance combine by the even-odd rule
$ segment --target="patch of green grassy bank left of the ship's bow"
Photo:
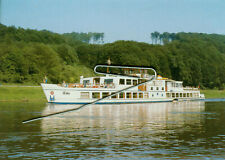
[[[0,87],[0,102],[46,102],[41,87]]]

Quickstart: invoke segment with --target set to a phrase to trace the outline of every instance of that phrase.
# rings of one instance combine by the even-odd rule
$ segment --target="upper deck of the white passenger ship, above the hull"
[[[134,86],[146,81],[146,78],[124,77],[124,76],[101,76],[101,77],[80,77],[80,83],[62,84],[62,87],[68,88],[96,88],[96,89],[114,89],[120,90]],[[158,76],[157,79],[146,84],[134,87],[132,90],[137,91],[165,91],[165,92],[182,92],[197,91],[198,88],[183,87],[182,81],[174,81],[168,78]]]

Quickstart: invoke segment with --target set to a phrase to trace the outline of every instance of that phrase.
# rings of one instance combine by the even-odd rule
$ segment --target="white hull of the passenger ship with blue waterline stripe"
[[[61,87],[55,84],[41,84],[43,91],[45,93],[46,99],[49,103],[55,104],[88,104],[92,103],[99,98],[103,97],[103,93],[114,93],[118,90],[108,89],[108,88],[67,88]],[[92,97],[92,93],[99,93],[99,97]],[[142,95],[142,97],[133,97],[132,93],[137,93]],[[81,93],[87,93],[90,97],[84,98]],[[127,96],[131,93],[131,97]],[[96,102],[96,104],[124,104],[124,103],[155,103],[155,102],[172,102],[172,101],[188,101],[188,100],[200,100],[198,97],[189,98],[178,98],[178,97],[167,97],[165,91],[157,92],[140,92],[136,90],[126,91],[125,97],[121,98],[119,95],[117,97],[108,97],[101,101]],[[154,97],[151,97],[154,94]],[[193,93],[194,94],[194,93]]]

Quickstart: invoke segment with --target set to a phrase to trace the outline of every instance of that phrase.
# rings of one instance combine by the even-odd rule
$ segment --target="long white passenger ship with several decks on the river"
[[[151,76],[144,71],[136,75],[139,75],[141,78],[108,74],[106,76],[89,78],[81,76],[80,83],[77,84],[42,83],[41,86],[47,101],[58,104],[87,104],[98,99],[102,99],[96,102],[98,104],[204,99],[204,94],[200,94],[198,88],[183,87],[182,81],[175,81],[158,75],[152,81],[140,85],[140,83],[151,79]],[[128,87],[129,89],[125,90]],[[123,91],[109,96],[120,90]]]

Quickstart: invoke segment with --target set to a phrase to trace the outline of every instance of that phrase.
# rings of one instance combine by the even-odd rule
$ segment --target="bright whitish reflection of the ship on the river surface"
[[[76,105],[48,104],[43,115],[76,108]],[[152,132],[190,126],[201,127],[201,114],[204,102],[148,103],[123,105],[92,105],[78,111],[46,118],[42,120],[43,132],[63,132],[73,130],[104,129],[116,134],[123,129],[139,130],[144,128]],[[186,127],[186,128],[183,128]],[[110,134],[109,132],[108,134]]]

